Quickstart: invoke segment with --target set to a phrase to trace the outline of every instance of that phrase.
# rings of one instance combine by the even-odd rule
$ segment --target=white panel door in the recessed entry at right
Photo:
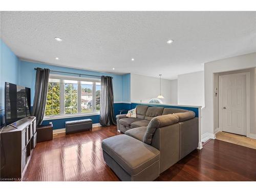
[[[246,73],[219,76],[222,131],[246,135]]]

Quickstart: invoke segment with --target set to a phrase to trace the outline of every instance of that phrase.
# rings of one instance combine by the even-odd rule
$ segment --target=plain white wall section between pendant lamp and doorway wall
[[[178,75],[178,104],[204,106],[204,71]]]

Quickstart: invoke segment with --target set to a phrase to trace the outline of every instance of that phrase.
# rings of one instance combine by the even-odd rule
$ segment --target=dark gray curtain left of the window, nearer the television
[[[42,123],[46,109],[46,99],[49,81],[49,69],[36,69],[35,96],[33,102],[33,116],[36,117],[36,125]]]

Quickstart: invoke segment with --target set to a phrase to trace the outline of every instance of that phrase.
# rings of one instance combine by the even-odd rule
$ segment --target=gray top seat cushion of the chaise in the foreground
[[[131,176],[139,174],[160,159],[160,152],[155,147],[128,135],[104,139],[101,146]]]

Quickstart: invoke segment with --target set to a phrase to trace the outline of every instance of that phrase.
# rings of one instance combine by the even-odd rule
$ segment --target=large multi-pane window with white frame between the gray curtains
[[[99,112],[100,88],[95,79],[50,76],[45,116]]]

